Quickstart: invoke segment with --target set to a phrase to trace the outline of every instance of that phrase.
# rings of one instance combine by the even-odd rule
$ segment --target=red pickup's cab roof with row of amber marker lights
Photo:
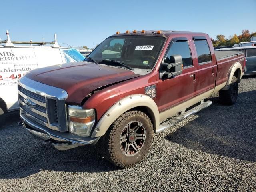
[[[112,36],[120,36],[120,35],[146,35],[146,36],[163,36],[168,37],[173,34],[201,34],[201,35],[207,35],[206,33],[198,33],[198,32],[191,32],[191,31],[171,31],[171,30],[164,30],[164,31],[157,31],[157,30],[142,30],[142,31],[126,31],[124,33],[116,32],[116,34]]]

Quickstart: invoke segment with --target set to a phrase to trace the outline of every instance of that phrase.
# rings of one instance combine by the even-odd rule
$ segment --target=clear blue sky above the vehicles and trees
[[[96,46],[116,31],[185,30],[226,38],[256,31],[256,0],[6,0],[0,37]]]

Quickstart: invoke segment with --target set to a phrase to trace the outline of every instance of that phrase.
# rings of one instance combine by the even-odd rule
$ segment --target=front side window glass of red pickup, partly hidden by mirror
[[[192,66],[192,57],[188,41],[176,41],[169,48],[166,56],[164,57],[165,63],[170,63],[170,56],[181,55],[183,61],[183,67]]]

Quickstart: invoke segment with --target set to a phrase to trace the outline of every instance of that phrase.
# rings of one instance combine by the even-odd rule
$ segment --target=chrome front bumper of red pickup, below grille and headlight
[[[100,137],[80,137],[69,132],[59,132],[44,128],[36,122],[31,122],[26,119],[22,113],[20,118],[23,122],[23,127],[26,128],[37,139],[44,140],[47,143],[51,143],[58,150],[68,150],[83,145],[93,145],[98,142]]]

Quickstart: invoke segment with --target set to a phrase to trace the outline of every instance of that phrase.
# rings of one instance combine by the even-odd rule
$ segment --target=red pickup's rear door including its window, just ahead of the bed
[[[204,36],[193,37],[198,74],[196,76],[196,96],[215,87],[217,65],[214,50],[210,50],[209,42]]]

